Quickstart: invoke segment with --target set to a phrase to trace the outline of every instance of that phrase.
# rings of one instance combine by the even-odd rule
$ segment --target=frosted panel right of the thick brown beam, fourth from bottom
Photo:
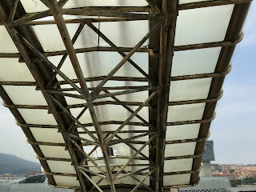
[[[196,123],[180,126],[167,126],[166,141],[198,138],[200,125],[201,124]]]

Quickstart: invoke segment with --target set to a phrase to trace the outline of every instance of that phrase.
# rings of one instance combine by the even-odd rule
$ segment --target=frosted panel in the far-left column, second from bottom
[[[76,174],[71,162],[47,161],[50,171],[54,173]]]

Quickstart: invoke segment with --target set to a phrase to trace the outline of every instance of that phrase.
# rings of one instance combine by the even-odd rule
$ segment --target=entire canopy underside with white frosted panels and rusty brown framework
[[[249,0],[0,3],[0,96],[50,186],[194,186]]]

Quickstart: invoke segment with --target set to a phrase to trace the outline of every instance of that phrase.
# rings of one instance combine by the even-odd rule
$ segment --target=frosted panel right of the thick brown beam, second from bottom
[[[166,160],[164,173],[191,170],[192,163],[193,158]]]

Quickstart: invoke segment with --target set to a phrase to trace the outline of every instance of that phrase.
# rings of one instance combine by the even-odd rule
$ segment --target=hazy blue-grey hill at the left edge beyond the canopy
[[[0,154],[0,174],[29,174],[39,170],[38,162],[30,162],[13,154]]]

